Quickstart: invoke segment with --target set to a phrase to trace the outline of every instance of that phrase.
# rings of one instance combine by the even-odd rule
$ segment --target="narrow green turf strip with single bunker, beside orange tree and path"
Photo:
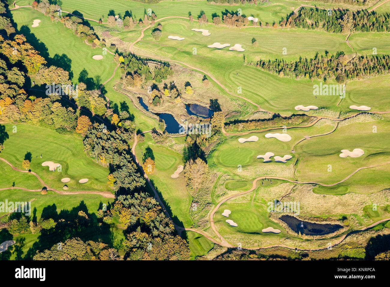
[[[150,147],[155,157],[156,168],[154,173],[148,175],[153,181],[154,187],[161,194],[165,207],[173,216],[175,223],[190,227],[192,219],[190,217],[191,195],[187,192],[184,171],[180,173],[179,178],[170,176],[176,171],[177,166],[184,165],[182,156],[165,146],[155,144],[151,135],[145,134],[145,141],[138,143],[136,154],[139,160],[142,160],[142,152]]]

